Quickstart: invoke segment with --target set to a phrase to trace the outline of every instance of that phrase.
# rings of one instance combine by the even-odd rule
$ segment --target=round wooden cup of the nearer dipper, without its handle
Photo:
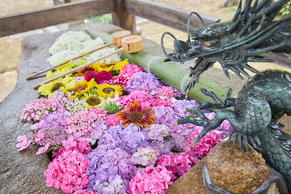
[[[139,35],[130,35],[121,38],[121,44],[124,52],[136,53],[143,49],[143,38]]]

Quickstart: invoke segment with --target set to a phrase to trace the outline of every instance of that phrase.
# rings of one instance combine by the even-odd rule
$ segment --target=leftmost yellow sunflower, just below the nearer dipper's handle
[[[38,88],[38,92],[44,96],[54,95],[56,91],[71,91],[75,86],[76,82],[73,81],[74,77],[66,75],[64,78],[59,78],[49,83],[41,84]]]

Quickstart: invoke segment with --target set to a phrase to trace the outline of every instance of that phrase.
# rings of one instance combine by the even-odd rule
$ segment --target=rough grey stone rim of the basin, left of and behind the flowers
[[[121,30],[110,24],[92,24],[100,31],[112,33]],[[83,30],[81,27],[77,30]],[[76,29],[74,29],[76,30]],[[0,194],[55,194],[60,189],[47,187],[43,171],[47,169],[49,159],[46,154],[36,155],[39,146],[32,145],[18,152],[15,147],[19,135],[32,135],[31,123],[20,118],[22,108],[36,99],[38,93],[33,86],[40,83],[44,75],[26,81],[25,77],[38,72],[49,64],[49,47],[63,32],[54,34],[30,35],[22,41],[22,55],[17,67],[18,81],[15,89],[0,103]]]

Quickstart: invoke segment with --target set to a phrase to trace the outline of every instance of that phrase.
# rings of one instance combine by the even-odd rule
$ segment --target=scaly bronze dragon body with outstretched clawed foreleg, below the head
[[[231,89],[223,100],[203,88],[200,91],[212,97],[214,103],[205,102],[186,108],[185,111],[197,114],[200,120],[187,117],[175,123],[193,123],[205,128],[192,145],[226,119],[233,127],[230,133],[230,136],[234,134],[233,143],[238,137],[241,150],[243,141],[247,151],[247,143],[252,145],[272,168],[282,174],[291,192],[291,135],[281,131],[284,125],[278,122],[284,114],[291,115],[291,74],[279,70],[256,74],[244,84],[237,98],[230,97]],[[231,106],[234,106],[234,111],[227,109]],[[209,120],[201,111],[204,108],[220,110],[213,120]]]

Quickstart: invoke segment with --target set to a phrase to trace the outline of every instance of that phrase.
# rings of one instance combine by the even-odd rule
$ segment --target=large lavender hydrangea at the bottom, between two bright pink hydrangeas
[[[123,190],[129,181],[127,158],[130,157],[126,151],[99,145],[85,157],[90,160],[89,168],[86,170],[89,180],[88,190],[108,194],[125,192]]]

